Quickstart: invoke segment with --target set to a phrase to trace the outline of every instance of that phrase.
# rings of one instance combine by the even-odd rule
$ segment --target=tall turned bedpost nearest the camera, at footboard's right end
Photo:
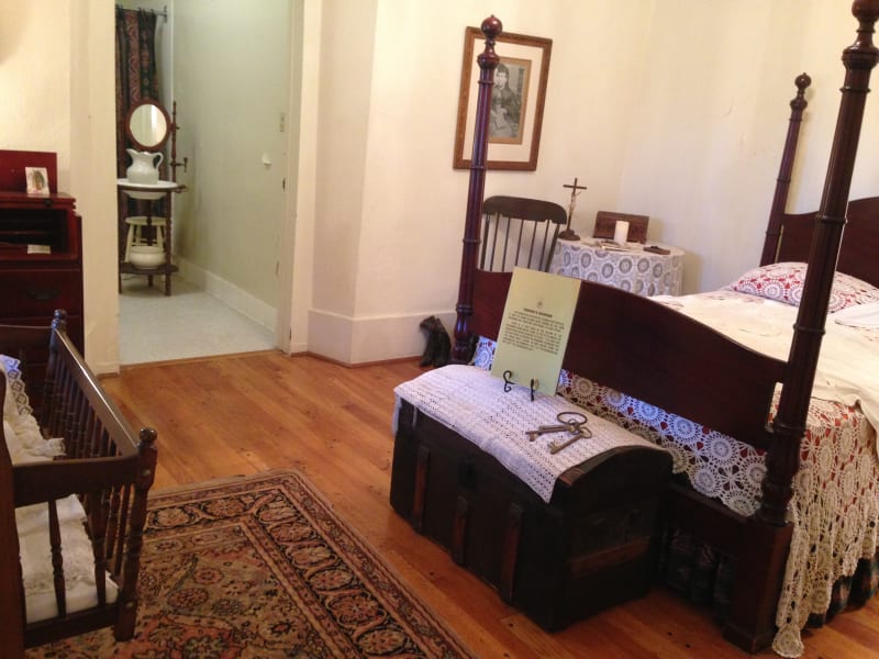
[[[791,537],[786,513],[790,502],[791,481],[800,465],[800,442],[805,433],[805,418],[815,378],[824,322],[839,254],[846,206],[852,183],[864,105],[869,92],[870,71],[879,60],[872,43],[874,25],[879,19],[879,0],[855,0],[852,13],[858,20],[857,38],[843,51],[846,68],[843,97],[833,138],[827,176],[821,206],[815,217],[815,231],[809,255],[803,297],[793,326],[793,340],[788,356],[788,369],[772,421],[774,440],[766,455],[766,477],[763,501],[748,520],[746,532],[753,541],[743,547],[736,580],[743,583],[764,583],[761,594],[749,594],[739,588],[733,596],[730,621],[724,635],[739,647],[755,649],[771,638],[775,630],[774,606],[755,607],[755,601],[776,603],[785,571],[785,559]],[[771,579],[769,563],[778,561]],[[758,600],[754,600],[754,596]]]

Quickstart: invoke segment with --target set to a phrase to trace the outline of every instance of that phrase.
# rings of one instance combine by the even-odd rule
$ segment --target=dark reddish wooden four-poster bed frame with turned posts
[[[792,535],[786,510],[799,468],[834,272],[838,269],[879,286],[879,198],[848,202],[870,71],[879,59],[872,44],[879,1],[856,0],[852,11],[859,26],[856,42],[843,52],[845,83],[820,210],[798,215],[785,212],[809,85],[803,75],[797,79],[798,94],[791,102],[788,139],[761,257],[761,265],[809,263],[788,360],[754,353],[645,298],[588,281],[580,284],[564,359],[564,368],[571,372],[767,451],[763,501],[749,517],[685,485],[672,484],[669,495],[669,525],[737,559],[724,636],[748,651],[769,645],[776,630],[776,607]],[[477,58],[478,105],[453,347],[457,362],[469,358],[474,335],[498,336],[510,284],[509,273],[481,271],[476,265],[491,81],[499,63],[494,40],[501,29],[494,16],[486,19],[486,48]],[[703,386],[706,379],[716,383],[711,390]],[[767,427],[778,382],[783,391],[775,420]]]

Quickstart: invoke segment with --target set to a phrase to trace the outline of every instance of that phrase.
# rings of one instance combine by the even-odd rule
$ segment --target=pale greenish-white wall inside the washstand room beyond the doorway
[[[176,253],[197,283],[254,298],[275,326],[290,115],[290,0],[174,5],[178,159]],[[289,260],[287,266],[290,267]],[[187,277],[187,278],[190,278]],[[219,291],[218,291],[219,292]],[[264,317],[270,315],[271,317]]]

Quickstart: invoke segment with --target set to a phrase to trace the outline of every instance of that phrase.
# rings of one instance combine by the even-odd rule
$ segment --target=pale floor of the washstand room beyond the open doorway
[[[156,277],[123,276],[119,297],[120,361],[123,366],[276,347],[275,333],[216,298],[174,276],[171,294]]]

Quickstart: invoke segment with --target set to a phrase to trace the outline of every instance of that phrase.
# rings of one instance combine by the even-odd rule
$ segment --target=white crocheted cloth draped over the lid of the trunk
[[[503,391],[504,383],[486,370],[449,365],[403,382],[394,392],[398,410],[405,400],[419,412],[452,428],[461,437],[497,458],[508,470],[549,502],[556,479],[570,467],[605,450],[621,446],[657,446],[619,425],[590,414],[558,395],[535,393],[525,387]],[[558,423],[560,412],[579,412],[588,418],[591,437],[579,439],[553,455],[552,443],[570,437],[567,431],[530,442],[526,431]],[[394,413],[394,431],[397,413]]]

